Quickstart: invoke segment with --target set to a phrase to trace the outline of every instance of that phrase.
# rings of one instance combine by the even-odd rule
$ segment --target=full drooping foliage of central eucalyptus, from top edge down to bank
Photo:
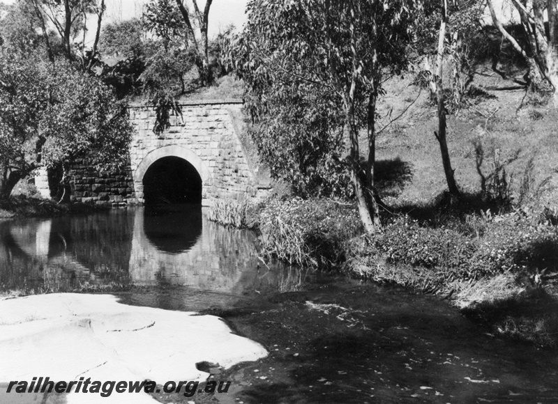
[[[247,109],[260,124],[255,141],[272,173],[301,194],[319,194],[324,188],[346,192],[346,172],[353,171],[367,231],[374,227],[371,206],[377,215],[363,191],[372,192],[374,161],[370,153],[363,186],[357,174],[359,130],[368,128],[373,150],[380,77],[406,65],[416,6],[414,1],[252,0],[248,23],[229,47],[229,61],[248,86]],[[342,161],[342,128],[351,139],[345,170],[324,164],[335,156]],[[287,144],[292,146],[283,153]]]

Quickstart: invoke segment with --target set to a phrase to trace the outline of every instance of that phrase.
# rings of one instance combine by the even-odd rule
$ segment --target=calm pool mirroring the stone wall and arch
[[[254,238],[192,206],[1,222],[0,290],[133,283],[239,296],[299,288],[304,275],[262,265]]]

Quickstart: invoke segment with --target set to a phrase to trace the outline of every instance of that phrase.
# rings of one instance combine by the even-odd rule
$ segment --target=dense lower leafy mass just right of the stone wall
[[[338,109],[311,86],[284,88],[269,94],[265,116],[250,127],[260,158],[296,195],[351,196],[349,170],[339,157],[344,144]]]

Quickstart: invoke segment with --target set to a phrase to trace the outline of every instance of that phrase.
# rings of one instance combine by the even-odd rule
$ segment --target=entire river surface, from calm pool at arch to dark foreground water
[[[556,351],[498,339],[436,297],[268,267],[254,240],[198,207],[14,219],[0,223],[0,288],[112,290],[215,314],[269,350],[214,370],[231,389],[195,403],[558,403]]]

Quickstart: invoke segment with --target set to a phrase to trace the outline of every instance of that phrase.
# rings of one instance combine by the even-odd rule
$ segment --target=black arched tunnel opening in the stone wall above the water
[[[202,178],[181,157],[163,157],[153,162],[143,178],[146,205],[202,203]]]

